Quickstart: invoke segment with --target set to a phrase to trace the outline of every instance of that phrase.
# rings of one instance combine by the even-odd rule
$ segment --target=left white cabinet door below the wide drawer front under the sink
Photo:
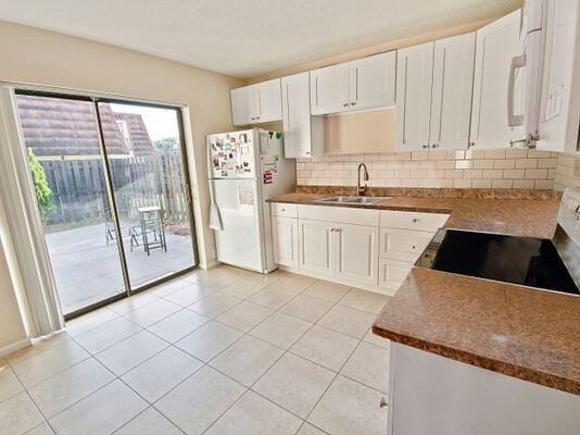
[[[300,220],[300,269],[332,276],[335,232],[328,222]]]

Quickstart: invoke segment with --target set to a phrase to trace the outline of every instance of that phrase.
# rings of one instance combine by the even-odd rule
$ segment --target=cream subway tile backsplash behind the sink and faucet
[[[433,150],[297,159],[298,184],[355,186],[365,162],[369,186],[562,189],[580,185],[580,158],[527,149]]]

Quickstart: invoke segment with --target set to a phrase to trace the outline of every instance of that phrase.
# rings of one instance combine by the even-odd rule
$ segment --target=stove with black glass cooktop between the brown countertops
[[[551,240],[440,229],[416,265],[580,296],[580,190],[564,192]]]

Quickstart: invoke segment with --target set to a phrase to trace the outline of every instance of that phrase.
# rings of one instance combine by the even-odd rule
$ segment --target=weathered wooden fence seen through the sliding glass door
[[[100,159],[42,160],[40,164],[54,195],[55,212],[47,224],[109,217]],[[178,153],[112,158],[109,165],[122,219],[137,220],[137,209],[146,206],[160,206],[167,221],[189,219],[181,157]]]

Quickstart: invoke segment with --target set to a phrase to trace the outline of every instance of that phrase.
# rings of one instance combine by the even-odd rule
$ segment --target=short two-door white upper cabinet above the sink
[[[313,115],[394,104],[396,52],[390,51],[311,72]]]

